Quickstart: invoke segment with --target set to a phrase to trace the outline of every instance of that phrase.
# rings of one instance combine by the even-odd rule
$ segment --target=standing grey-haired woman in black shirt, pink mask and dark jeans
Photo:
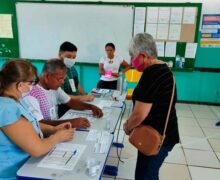
[[[156,44],[150,34],[140,33],[133,37],[130,42],[129,54],[132,58],[132,65],[143,74],[133,92],[134,108],[124,123],[124,131],[130,135],[135,127],[143,124],[152,126],[162,135],[172,95],[173,74],[163,61],[157,59]],[[164,159],[174,145],[179,143],[176,100],[175,91],[166,137],[159,153],[154,156],[146,156],[138,151],[136,180],[159,179],[159,169]]]

